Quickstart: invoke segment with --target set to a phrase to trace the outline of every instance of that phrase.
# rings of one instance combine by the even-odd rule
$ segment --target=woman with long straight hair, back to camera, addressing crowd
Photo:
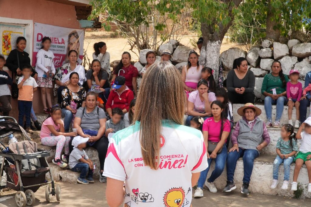
[[[123,200],[124,206],[190,206],[207,155],[201,131],[183,126],[183,109],[177,68],[152,64],[138,92],[134,123],[110,139],[103,173],[109,206]]]

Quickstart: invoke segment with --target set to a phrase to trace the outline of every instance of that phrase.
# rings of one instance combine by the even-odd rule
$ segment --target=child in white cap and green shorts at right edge
[[[302,132],[303,128],[304,132]],[[308,193],[311,193],[311,117],[308,117],[304,123],[301,124],[296,138],[301,139],[301,145],[295,159],[296,165],[291,190],[297,191],[297,178],[302,165],[305,164],[309,176]]]

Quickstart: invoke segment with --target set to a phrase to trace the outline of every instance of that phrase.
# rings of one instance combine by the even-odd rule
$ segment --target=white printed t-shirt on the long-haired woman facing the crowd
[[[163,120],[160,139],[157,170],[144,164],[140,122],[110,139],[103,175],[125,181],[124,206],[190,207],[192,173],[208,167],[202,132]]]

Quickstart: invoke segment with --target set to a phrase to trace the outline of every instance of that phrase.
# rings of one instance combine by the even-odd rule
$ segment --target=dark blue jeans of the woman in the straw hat
[[[242,149],[239,147],[239,151],[231,151],[227,156],[227,180],[233,182],[234,171],[236,162],[240,157],[243,157],[244,165],[244,177],[243,182],[249,183],[253,172],[254,160],[259,156],[257,150]]]

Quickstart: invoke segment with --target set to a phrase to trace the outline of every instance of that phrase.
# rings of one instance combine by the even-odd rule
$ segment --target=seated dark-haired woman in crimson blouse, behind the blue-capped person
[[[122,59],[112,71],[111,85],[113,85],[114,80],[119,75],[125,77],[126,86],[137,95],[138,70],[131,64],[131,54],[129,52],[123,52]]]

